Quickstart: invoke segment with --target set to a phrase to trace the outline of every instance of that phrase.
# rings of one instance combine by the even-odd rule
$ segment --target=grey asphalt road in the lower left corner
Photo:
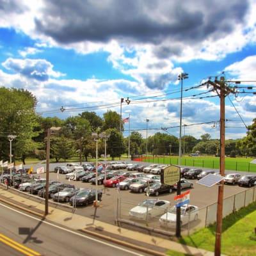
[[[100,241],[0,204],[0,234],[31,248],[40,255],[145,255],[116,244]],[[0,242],[1,256],[23,255]]]

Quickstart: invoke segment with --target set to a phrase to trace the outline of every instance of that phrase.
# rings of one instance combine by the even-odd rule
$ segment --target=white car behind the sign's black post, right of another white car
[[[198,220],[198,207],[195,205],[184,205],[180,207],[180,225],[186,225],[190,221]],[[159,218],[161,227],[176,227],[176,207],[173,206]]]

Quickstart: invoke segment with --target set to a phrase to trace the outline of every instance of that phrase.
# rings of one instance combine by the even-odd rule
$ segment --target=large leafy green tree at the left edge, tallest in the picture
[[[12,143],[13,160],[20,158],[25,164],[26,157],[39,145],[33,141],[40,131],[35,113],[35,96],[23,89],[0,88],[0,157],[9,158],[8,134],[17,136]],[[4,135],[3,135],[4,134]]]

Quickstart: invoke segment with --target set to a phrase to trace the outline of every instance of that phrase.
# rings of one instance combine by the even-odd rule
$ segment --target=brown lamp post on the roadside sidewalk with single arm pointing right
[[[47,129],[47,145],[46,145],[46,182],[45,182],[45,211],[49,214],[49,171],[50,171],[50,138],[51,134],[60,131],[61,127],[51,127]]]

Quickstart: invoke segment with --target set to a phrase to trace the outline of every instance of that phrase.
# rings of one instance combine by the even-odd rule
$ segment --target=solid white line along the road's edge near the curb
[[[7,205],[1,204],[1,203],[0,203],[0,205],[2,205],[3,207],[5,207],[5,208],[7,208],[7,209],[12,210],[12,211],[18,212],[19,214],[22,214],[22,215],[24,215],[24,216],[27,216],[27,217],[29,217],[29,218],[31,218],[31,219],[33,219],[33,220],[42,221],[43,223],[45,223],[45,224],[47,224],[47,225],[50,225],[50,226],[55,227],[55,228],[59,228],[59,229],[61,229],[61,230],[67,231],[67,232],[69,232],[69,233],[71,233],[71,234],[84,237],[84,238],[86,238],[86,239],[95,241],[95,242],[100,243],[100,244],[104,244],[104,245],[106,245],[106,246],[109,246],[109,247],[112,247],[112,248],[115,248],[115,249],[118,249],[118,250],[121,250],[121,251],[124,251],[124,252],[127,252],[127,253],[131,253],[131,254],[133,254],[133,255],[143,256],[143,254],[139,254],[139,253],[136,253],[136,252],[132,252],[132,251],[126,250],[126,249],[124,249],[124,248],[120,248],[120,247],[118,247],[118,246],[115,246],[115,245],[113,245],[113,244],[108,244],[108,243],[105,243],[105,242],[103,242],[103,241],[97,240],[97,239],[95,239],[95,238],[92,238],[92,237],[89,237],[89,236],[85,236],[85,235],[79,234],[79,233],[74,232],[74,231],[72,231],[72,230],[68,230],[67,228],[63,228],[63,227],[60,227],[60,226],[58,226],[58,225],[54,225],[54,224],[52,224],[52,223],[49,223],[49,222],[47,222],[47,221],[45,221],[45,220],[40,220],[40,219],[35,218],[35,217],[33,217],[33,216],[30,216],[29,214],[26,214],[26,213],[24,213],[24,212],[17,211],[17,210],[15,210],[15,209],[13,209],[12,207],[8,207]]]

